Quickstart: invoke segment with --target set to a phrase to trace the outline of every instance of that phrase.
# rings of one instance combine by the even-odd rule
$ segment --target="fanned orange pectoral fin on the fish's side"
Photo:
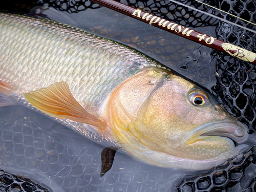
[[[83,109],[64,81],[51,84],[47,88],[25,93],[24,96],[36,109],[47,115],[90,124],[99,129],[106,127],[105,122]]]

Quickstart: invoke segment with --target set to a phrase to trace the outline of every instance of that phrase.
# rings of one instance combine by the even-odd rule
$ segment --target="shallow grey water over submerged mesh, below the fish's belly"
[[[103,148],[23,106],[0,108],[0,167],[52,191],[173,191],[184,175],[116,153],[100,177]]]

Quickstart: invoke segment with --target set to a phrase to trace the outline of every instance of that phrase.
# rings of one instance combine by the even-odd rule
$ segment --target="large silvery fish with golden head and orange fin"
[[[195,83],[52,20],[0,13],[0,95],[154,166],[204,170],[249,147],[247,127]]]

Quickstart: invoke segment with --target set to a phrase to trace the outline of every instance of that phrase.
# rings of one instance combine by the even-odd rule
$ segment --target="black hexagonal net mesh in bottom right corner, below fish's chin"
[[[178,191],[247,191],[254,188],[255,152],[250,150],[229,159],[212,168],[207,173],[200,173],[183,180]]]

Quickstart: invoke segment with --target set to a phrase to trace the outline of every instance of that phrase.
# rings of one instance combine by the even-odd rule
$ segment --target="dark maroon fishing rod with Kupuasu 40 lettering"
[[[175,2],[173,0],[171,1]],[[227,53],[233,57],[237,57],[239,59],[248,61],[256,65],[256,53],[229,44],[228,42],[224,42],[215,37],[178,25],[174,22],[170,22],[169,20],[163,19],[153,14],[146,13],[140,9],[127,6],[115,0],[91,0],[91,2],[97,3],[99,5],[110,8],[124,15],[138,19],[144,23],[150,24],[154,27],[160,28],[170,33],[174,33],[186,39],[198,42],[201,45],[207,46],[212,49],[216,49],[218,51]]]

